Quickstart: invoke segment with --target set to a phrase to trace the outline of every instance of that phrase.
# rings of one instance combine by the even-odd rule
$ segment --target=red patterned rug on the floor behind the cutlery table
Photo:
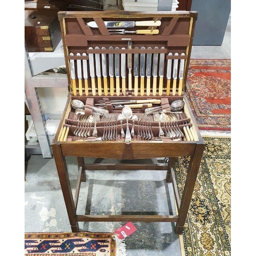
[[[200,130],[231,130],[230,59],[190,59],[186,87]]]

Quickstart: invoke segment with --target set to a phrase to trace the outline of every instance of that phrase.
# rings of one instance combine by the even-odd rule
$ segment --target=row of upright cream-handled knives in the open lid
[[[89,48],[90,50],[92,48]],[[99,48],[95,48],[96,50]],[[122,48],[124,49],[124,48]],[[164,49],[162,47],[161,49]],[[119,50],[119,48],[118,48]],[[151,48],[150,48],[151,50]],[[89,91],[91,91],[92,96],[125,96],[126,91],[133,91],[134,96],[162,96],[163,91],[166,96],[173,95],[182,95],[183,90],[183,78],[184,78],[184,63],[186,59],[185,53],[163,53],[163,52],[154,52],[154,53],[145,53],[145,61],[144,61],[144,76],[140,76],[140,68],[141,68],[141,53],[138,53],[138,77],[134,76],[134,53],[132,55],[132,71],[129,73],[127,68],[127,59],[128,53],[115,53],[113,52],[113,73],[114,76],[109,75],[109,57],[110,53],[106,52],[106,76],[102,76],[102,53],[80,53],[76,54],[76,57],[73,53],[70,53],[70,67],[73,68],[73,72],[75,73],[75,77],[73,75],[72,78],[72,89],[73,95],[89,95]],[[120,51],[119,51],[120,52]],[[151,50],[152,52],[152,50]],[[146,65],[147,65],[147,56],[151,54],[151,76],[146,76]],[[157,60],[157,76],[152,75],[153,71],[153,59],[154,54],[158,55]],[[163,76],[159,76],[159,61],[161,54],[164,54],[164,67],[163,67]],[[119,55],[119,76],[116,76],[115,71],[115,56]],[[74,57],[73,57],[74,56]],[[173,57],[172,57],[173,56]],[[94,77],[91,76],[90,72],[90,59],[93,59],[93,69],[94,69]],[[125,58],[125,77],[121,76],[121,59]],[[167,61],[166,61],[167,59]],[[76,60],[76,61],[75,61]],[[78,61],[81,63],[81,75],[77,76],[77,63]],[[175,62],[176,68],[174,68]],[[167,65],[170,65],[170,68],[167,69]],[[96,66],[100,68],[100,75],[96,75]],[[91,67],[92,68],[92,67]],[[181,70],[180,70],[181,69]],[[86,70],[87,74],[84,74],[84,70]],[[167,70],[169,71],[167,74]],[[72,72],[72,71],[71,71]],[[179,76],[179,74],[181,75]],[[126,75],[128,74],[128,76]],[[179,78],[180,77],[180,78]],[[153,84],[153,85],[152,85]],[[127,86],[128,85],[128,86]],[[84,91],[84,93],[83,93]]]

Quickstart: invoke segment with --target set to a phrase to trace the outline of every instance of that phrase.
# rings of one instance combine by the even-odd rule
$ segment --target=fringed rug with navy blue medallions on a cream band
[[[25,256],[125,256],[114,233],[25,233]]]

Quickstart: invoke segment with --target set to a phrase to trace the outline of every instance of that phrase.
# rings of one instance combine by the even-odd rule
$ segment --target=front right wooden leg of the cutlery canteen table
[[[190,158],[189,167],[187,170],[187,177],[186,177],[181,204],[179,208],[179,221],[176,224],[177,234],[182,234],[182,231],[184,229],[184,224],[186,221],[189,204],[190,204],[195,183],[197,180],[198,170],[201,164],[203,152],[204,152],[204,144],[197,144],[195,153]]]

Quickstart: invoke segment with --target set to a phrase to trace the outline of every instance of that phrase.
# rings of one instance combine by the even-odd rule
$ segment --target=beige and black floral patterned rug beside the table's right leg
[[[204,138],[199,169],[181,245],[185,256],[231,255],[231,138]],[[175,165],[179,193],[184,188],[188,161]],[[183,247],[183,246],[181,246]]]

